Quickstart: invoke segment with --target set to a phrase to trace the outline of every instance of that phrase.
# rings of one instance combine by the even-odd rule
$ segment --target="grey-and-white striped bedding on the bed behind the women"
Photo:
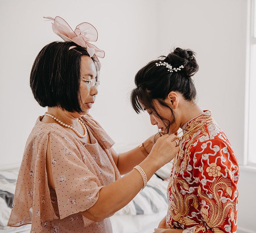
[[[11,212],[13,193],[15,191],[18,169],[0,171],[0,231],[3,232],[29,232],[30,224],[13,228],[7,227],[7,222]],[[166,213],[168,201],[166,198],[168,181],[162,180],[157,175],[153,175],[147,186],[141,190],[134,199],[124,208],[119,210],[115,216],[146,216],[157,213]],[[132,223],[131,223],[132,224]],[[155,223],[157,224],[157,223]],[[114,228],[113,228],[114,230]],[[114,231],[115,232],[115,231]],[[116,231],[117,232],[117,231]]]

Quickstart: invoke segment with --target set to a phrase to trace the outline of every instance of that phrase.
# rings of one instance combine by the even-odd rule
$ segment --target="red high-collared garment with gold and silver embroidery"
[[[210,111],[183,126],[168,185],[167,228],[236,232],[238,162]]]

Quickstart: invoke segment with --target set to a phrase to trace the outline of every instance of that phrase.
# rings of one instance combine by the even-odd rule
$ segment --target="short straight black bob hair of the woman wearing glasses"
[[[74,49],[69,48],[76,46]],[[30,87],[42,107],[60,107],[68,112],[83,110],[80,106],[81,57],[87,50],[73,42],[52,42],[37,55],[30,73]],[[92,57],[97,69],[98,65]]]

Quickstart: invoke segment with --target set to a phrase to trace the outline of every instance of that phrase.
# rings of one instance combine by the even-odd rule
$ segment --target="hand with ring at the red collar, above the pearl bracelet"
[[[180,150],[175,140],[179,142],[178,137],[174,134],[161,136],[157,139],[147,158],[153,159],[159,168],[170,162]]]

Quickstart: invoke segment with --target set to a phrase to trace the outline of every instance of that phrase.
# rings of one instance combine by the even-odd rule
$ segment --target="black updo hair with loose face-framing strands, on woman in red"
[[[156,66],[156,63],[167,62],[173,68],[183,65],[178,72],[170,72],[166,66]],[[192,76],[198,71],[195,53],[189,49],[176,48],[167,56],[149,62],[141,68],[135,76],[135,85],[131,92],[130,100],[136,113],[148,109],[153,115],[159,117],[169,130],[170,125],[175,123],[176,116],[172,108],[164,100],[172,91],[182,94],[185,100],[194,102],[196,89]],[[153,100],[170,110],[172,120],[166,119],[156,111]],[[143,107],[143,106],[144,107]]]

